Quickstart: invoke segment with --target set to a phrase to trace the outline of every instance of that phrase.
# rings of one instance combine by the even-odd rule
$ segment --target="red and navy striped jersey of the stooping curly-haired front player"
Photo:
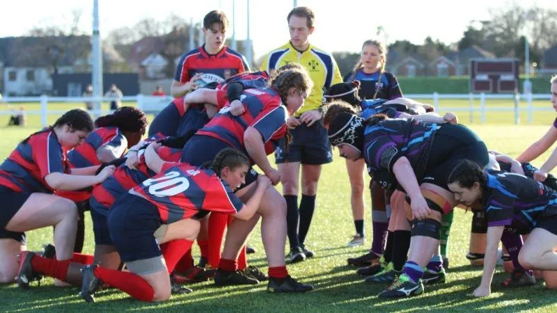
[[[219,93],[226,91],[217,91],[217,99],[223,101],[224,98]],[[281,97],[272,88],[253,88],[244,90],[240,101],[246,106],[242,115],[233,116],[228,103],[219,103],[219,107],[223,106],[222,109],[196,134],[220,139],[247,155],[244,132],[251,126],[260,132],[265,151],[271,154],[274,148],[267,143],[277,141],[286,133],[288,111],[283,106]]]

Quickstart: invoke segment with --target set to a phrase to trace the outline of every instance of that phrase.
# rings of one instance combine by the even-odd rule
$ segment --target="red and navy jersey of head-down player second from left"
[[[100,165],[97,159],[97,149],[111,147],[120,152],[117,158],[122,157],[127,148],[127,139],[118,127],[100,127],[91,131],[82,145],[74,147],[68,152],[68,161],[71,168],[87,168]]]

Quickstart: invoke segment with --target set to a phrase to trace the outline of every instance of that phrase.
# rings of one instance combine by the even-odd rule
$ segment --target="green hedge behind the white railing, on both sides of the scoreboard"
[[[469,93],[468,77],[397,77],[402,93]],[[519,92],[522,92],[520,79]],[[549,78],[534,77],[532,81],[533,93],[549,93]]]

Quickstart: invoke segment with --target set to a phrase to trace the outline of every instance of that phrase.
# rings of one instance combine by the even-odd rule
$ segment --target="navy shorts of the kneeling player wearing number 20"
[[[124,195],[111,207],[108,223],[113,246],[123,262],[162,255],[154,236],[162,225],[155,204],[137,195]]]

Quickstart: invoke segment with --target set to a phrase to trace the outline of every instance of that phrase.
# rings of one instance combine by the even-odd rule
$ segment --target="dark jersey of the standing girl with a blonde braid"
[[[381,76],[381,81],[379,81],[379,76]],[[373,99],[376,90],[379,90],[376,99],[392,100],[402,97],[396,77],[389,72],[383,72],[382,75],[379,71],[368,74],[363,72],[363,69],[359,69],[355,74],[348,74],[344,81],[360,81],[358,95],[361,99]]]

